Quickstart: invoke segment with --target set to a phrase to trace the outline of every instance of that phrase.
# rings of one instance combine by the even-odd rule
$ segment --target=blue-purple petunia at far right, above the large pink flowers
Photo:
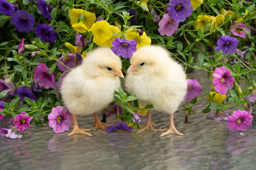
[[[230,37],[230,36],[221,36],[221,38],[218,39],[217,41],[217,45],[216,46],[216,50],[223,51],[223,55],[225,54],[232,54],[234,52],[236,52],[236,48],[238,45],[239,41],[234,38],[234,37]]]

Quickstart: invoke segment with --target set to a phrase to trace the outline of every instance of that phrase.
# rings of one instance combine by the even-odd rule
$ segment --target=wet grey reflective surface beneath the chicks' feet
[[[196,72],[189,76],[209,90],[206,75]],[[159,138],[161,132],[152,131],[136,134],[138,129],[110,134],[99,129],[91,132],[91,138],[68,137],[69,131],[54,134],[48,124],[32,124],[21,139],[0,137],[0,169],[255,169],[255,120],[245,132],[229,132],[227,123],[205,118],[206,104],[199,100],[193,106],[196,114],[189,117],[191,124],[183,123],[181,107],[174,114],[175,126],[184,137]],[[115,121],[113,117],[107,120]],[[157,128],[167,127],[168,120],[166,113],[153,112]],[[93,115],[79,117],[78,123],[93,129]]]

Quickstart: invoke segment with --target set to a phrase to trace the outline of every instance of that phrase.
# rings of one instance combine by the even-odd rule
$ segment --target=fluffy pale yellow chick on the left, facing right
[[[95,130],[106,129],[106,124],[100,122],[96,111],[102,110],[113,101],[113,93],[120,87],[124,78],[121,71],[122,62],[109,48],[97,48],[88,53],[83,63],[70,71],[61,84],[61,94],[67,109],[72,113],[73,131],[68,134],[92,134],[79,129],[76,115],[94,114]]]

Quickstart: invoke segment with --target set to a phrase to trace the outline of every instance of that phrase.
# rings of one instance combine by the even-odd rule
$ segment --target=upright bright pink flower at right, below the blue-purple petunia
[[[232,72],[223,66],[215,69],[215,72],[212,73],[212,76],[214,76],[212,83],[216,92],[220,92],[223,95],[227,94],[228,89],[232,89],[235,78],[231,74]]]

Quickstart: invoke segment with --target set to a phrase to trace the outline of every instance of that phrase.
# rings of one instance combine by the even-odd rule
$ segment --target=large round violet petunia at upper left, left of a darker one
[[[30,32],[33,31],[35,24],[35,18],[27,11],[19,10],[11,15],[11,24],[19,31]]]

